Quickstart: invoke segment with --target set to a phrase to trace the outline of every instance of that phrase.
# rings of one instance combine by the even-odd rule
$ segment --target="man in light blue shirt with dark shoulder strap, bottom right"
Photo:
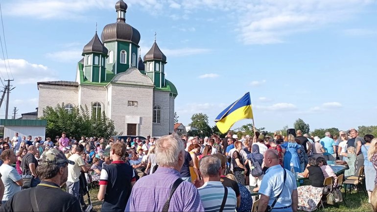
[[[266,211],[267,206],[271,207],[276,197],[272,212],[296,212],[298,205],[297,184],[293,173],[285,169],[286,179],[284,183],[284,169],[279,164],[278,152],[275,149],[268,149],[264,153],[264,164],[268,167],[261,182],[259,193],[259,212]]]

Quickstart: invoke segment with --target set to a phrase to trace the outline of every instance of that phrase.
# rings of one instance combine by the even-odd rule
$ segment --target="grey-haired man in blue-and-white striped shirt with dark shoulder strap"
[[[199,171],[204,182],[204,185],[198,188],[204,210],[206,212],[234,212],[237,203],[236,192],[220,182],[220,159],[213,155],[203,157],[199,161]],[[224,197],[225,189],[228,190],[226,197]],[[224,198],[226,198],[225,206],[223,210],[220,210]]]

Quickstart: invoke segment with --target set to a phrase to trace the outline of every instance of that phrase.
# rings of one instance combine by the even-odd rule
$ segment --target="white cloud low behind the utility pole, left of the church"
[[[0,59],[0,64],[3,63],[4,61]],[[9,65],[15,84],[36,84],[40,81],[57,80],[56,72],[41,64],[29,63],[24,59],[9,59]],[[5,67],[0,66],[0,73],[2,76],[7,76]]]

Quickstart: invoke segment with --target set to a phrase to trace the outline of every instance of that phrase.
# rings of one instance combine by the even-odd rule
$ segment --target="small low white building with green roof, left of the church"
[[[0,119],[0,125],[4,127],[4,138],[13,138],[15,133],[23,136],[40,136],[42,141],[46,140],[47,120],[33,119]]]

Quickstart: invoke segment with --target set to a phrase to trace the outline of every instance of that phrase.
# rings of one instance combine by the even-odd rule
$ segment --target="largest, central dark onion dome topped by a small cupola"
[[[115,4],[115,9],[118,13],[117,22],[113,24],[107,24],[105,27],[103,27],[101,34],[102,42],[126,41],[139,45],[139,31],[131,25],[125,23],[125,13],[127,9],[127,4],[124,3],[123,0],[119,0]]]

